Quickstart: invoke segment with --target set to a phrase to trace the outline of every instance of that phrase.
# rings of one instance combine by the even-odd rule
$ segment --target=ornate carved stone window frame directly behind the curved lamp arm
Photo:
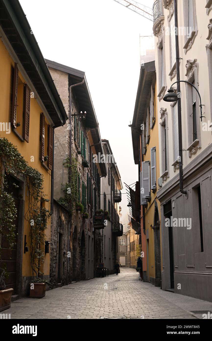
[[[187,81],[190,83],[195,83],[195,87],[198,89],[199,87],[199,64],[197,59],[191,60],[188,59],[186,61],[186,74]],[[196,92],[196,119],[197,119],[197,139],[193,141],[193,119],[190,116],[192,113],[192,86],[190,84],[185,83],[185,92],[186,92],[186,109],[187,109],[187,127],[188,127],[188,148],[186,149],[189,152],[189,158],[192,157],[193,154],[197,152],[198,149],[201,148],[201,127],[200,127],[200,107],[199,107],[199,95]],[[192,122],[191,122],[192,120]],[[192,124],[191,124],[192,123]]]

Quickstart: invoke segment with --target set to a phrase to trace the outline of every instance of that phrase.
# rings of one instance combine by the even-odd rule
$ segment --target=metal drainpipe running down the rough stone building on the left
[[[73,84],[69,86],[69,124],[70,124],[70,130],[69,130],[69,183],[71,182],[71,89],[78,86],[78,85],[82,85],[84,83],[85,79],[83,78],[83,80],[80,83],[77,84]],[[70,188],[70,192],[71,192],[71,188]],[[70,193],[71,194],[71,193]],[[70,201],[69,201],[69,209],[71,210],[72,208],[72,202],[71,202],[71,195],[70,195]],[[70,251],[70,242],[69,242],[69,238],[70,238],[70,229],[71,229],[71,218],[69,221],[69,226],[68,226],[68,252]],[[67,271],[66,271],[66,282],[68,284],[68,264],[69,264],[69,257],[67,257]]]

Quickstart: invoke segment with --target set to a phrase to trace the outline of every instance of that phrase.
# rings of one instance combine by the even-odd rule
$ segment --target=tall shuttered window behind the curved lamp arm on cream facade
[[[196,59],[190,61],[193,64],[193,72],[189,73],[187,81],[194,85],[197,89],[199,87],[198,82],[198,62]],[[199,148],[201,148],[201,125],[200,125],[200,107],[199,107],[199,95],[196,89],[190,84],[185,84],[186,89],[186,106],[187,106],[187,127],[188,127],[188,147],[189,158],[192,154],[195,154]]]

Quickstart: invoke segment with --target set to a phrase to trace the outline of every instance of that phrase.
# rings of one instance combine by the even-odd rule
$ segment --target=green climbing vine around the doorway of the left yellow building
[[[19,153],[16,146],[6,138],[0,137],[0,234],[13,248],[15,244],[15,225],[17,210],[13,195],[7,193],[7,176],[16,175],[23,179],[28,191],[28,209],[25,219],[30,224],[30,255],[33,278],[39,277],[40,265],[44,263],[45,229],[50,217],[50,211],[44,207],[49,202],[43,192],[44,177],[37,169],[30,167]],[[13,184],[15,186],[15,184]],[[17,186],[16,186],[17,187]],[[0,249],[1,260],[1,249]],[[2,261],[1,261],[2,264]],[[4,279],[7,273],[4,265],[0,268],[0,287],[5,287]]]

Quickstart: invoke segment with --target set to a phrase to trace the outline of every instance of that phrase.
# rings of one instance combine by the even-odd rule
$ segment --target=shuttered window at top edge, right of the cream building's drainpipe
[[[185,54],[192,48],[195,37],[198,33],[197,16],[196,16],[196,1],[183,1],[183,16],[184,16],[184,52]]]

